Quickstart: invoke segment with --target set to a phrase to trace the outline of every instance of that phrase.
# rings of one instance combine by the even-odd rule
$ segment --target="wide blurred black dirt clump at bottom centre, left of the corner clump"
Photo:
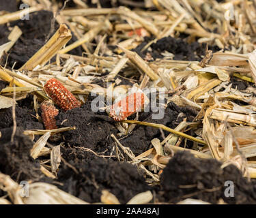
[[[107,189],[125,204],[136,194],[151,189],[130,163],[96,158],[74,166],[79,174],[65,166],[59,170],[58,181],[64,183],[59,188],[87,202],[100,202],[102,190]]]

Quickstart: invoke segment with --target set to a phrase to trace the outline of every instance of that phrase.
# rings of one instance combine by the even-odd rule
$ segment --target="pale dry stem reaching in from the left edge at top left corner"
[[[15,21],[15,20],[19,20],[20,18],[23,17],[24,14],[30,14],[32,12],[37,12],[41,9],[42,9],[41,6],[29,7],[29,8],[26,8],[24,10],[20,10],[20,11],[13,12],[13,13],[10,13],[10,14],[2,15],[2,16],[0,16],[0,25],[3,25],[7,22],[12,22],[12,21]]]

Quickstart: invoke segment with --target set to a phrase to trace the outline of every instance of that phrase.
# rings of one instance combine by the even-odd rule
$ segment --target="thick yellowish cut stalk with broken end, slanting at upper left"
[[[59,52],[59,50],[67,44],[72,35],[66,25],[60,25],[56,33],[46,44],[38,50],[38,52],[23,65],[22,69],[33,70],[38,65],[45,65],[51,58]]]

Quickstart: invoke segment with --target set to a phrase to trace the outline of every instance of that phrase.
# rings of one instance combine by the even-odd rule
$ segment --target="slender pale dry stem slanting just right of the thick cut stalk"
[[[72,50],[72,49],[74,49],[74,48],[76,48],[78,46],[81,46],[85,42],[90,42],[104,28],[106,28],[104,26],[104,23],[101,23],[98,27],[94,27],[93,29],[91,29],[87,33],[85,33],[85,35],[83,37],[81,37],[80,40],[77,40],[76,42],[74,42],[73,44],[67,46],[66,48],[61,49],[59,51],[59,54],[65,54],[65,53],[69,52],[70,50]]]

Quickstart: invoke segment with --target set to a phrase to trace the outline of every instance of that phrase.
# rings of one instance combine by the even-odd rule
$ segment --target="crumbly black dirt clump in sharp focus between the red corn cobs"
[[[56,120],[59,127],[76,127],[63,133],[70,146],[83,146],[96,152],[113,148],[111,134],[117,134],[113,120],[104,112],[93,112],[90,99],[81,108],[60,111]]]

